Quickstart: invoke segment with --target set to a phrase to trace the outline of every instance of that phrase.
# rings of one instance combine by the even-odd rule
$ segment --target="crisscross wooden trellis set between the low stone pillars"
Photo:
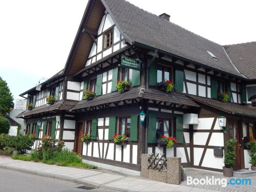
[[[164,157],[164,154],[160,154],[160,157],[159,157],[159,153],[148,154],[147,161],[148,161],[147,169],[162,170],[165,172],[167,171],[167,168],[166,168],[167,160]]]

